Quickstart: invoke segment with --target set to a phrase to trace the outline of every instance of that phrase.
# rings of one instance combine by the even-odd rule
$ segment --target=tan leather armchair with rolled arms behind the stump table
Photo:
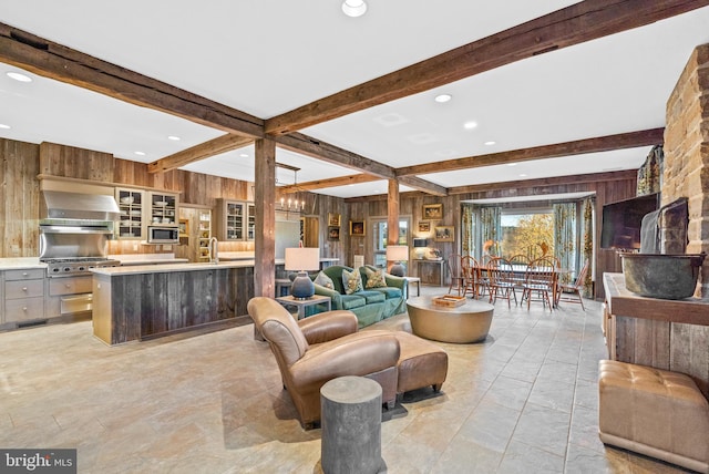
[[[382,403],[393,406],[400,347],[391,332],[357,332],[357,317],[347,310],[296,321],[282,306],[266,297],[251,298],[247,309],[270,344],[284,387],[305,429],[320,421],[320,388],[338,377],[376,380],[382,385]]]

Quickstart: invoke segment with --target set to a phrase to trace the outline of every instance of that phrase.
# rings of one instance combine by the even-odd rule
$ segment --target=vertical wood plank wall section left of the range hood
[[[39,145],[0,138],[0,257],[39,254]]]

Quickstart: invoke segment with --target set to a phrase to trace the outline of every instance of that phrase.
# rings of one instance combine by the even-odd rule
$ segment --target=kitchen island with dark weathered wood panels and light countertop
[[[93,332],[107,344],[246,315],[254,296],[254,260],[136,265],[93,274]]]

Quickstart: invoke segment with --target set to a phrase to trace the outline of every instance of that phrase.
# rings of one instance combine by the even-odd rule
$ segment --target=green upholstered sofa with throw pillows
[[[369,267],[377,269],[376,267]],[[328,296],[332,300],[332,309],[349,309],[357,316],[359,327],[363,328],[374,322],[399,315],[407,310],[405,305],[405,280],[401,277],[386,274],[386,287],[367,288],[367,272],[364,267],[359,271],[362,276],[363,291],[352,295],[345,293],[342,284],[342,270],[352,271],[352,268],[341,265],[332,265],[322,269],[322,272],[332,279],[333,289],[315,285],[316,295]],[[314,276],[315,277],[315,276]]]

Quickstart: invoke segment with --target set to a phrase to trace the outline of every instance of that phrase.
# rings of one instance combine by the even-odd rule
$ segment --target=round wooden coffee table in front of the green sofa
[[[441,342],[480,342],[487,337],[495,307],[474,299],[449,308],[435,305],[432,297],[409,298],[407,309],[414,334]]]

